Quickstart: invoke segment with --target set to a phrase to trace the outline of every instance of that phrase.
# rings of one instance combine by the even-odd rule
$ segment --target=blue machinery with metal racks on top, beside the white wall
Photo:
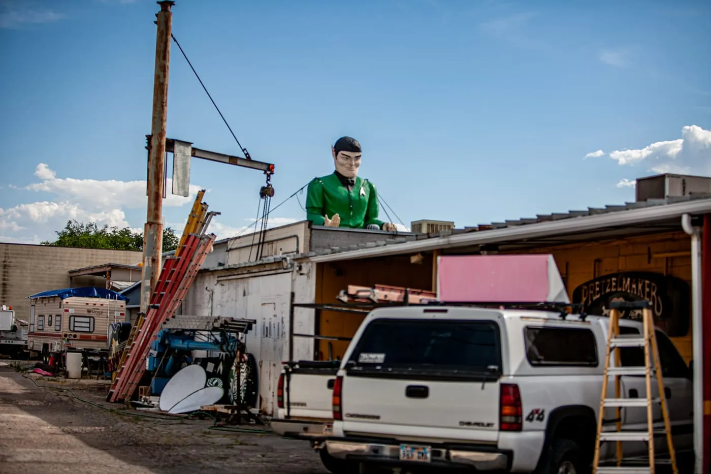
[[[234,317],[177,315],[164,322],[146,360],[151,376],[151,394],[159,395],[184,363],[193,363],[193,351],[207,351],[234,356],[244,352],[245,335],[255,320]]]

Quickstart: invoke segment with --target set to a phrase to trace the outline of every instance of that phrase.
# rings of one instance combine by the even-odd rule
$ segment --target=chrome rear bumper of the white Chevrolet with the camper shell
[[[328,454],[336,459],[354,460],[372,463],[403,463],[424,465],[422,462],[401,461],[400,444],[384,444],[370,441],[346,439],[326,440]],[[501,451],[479,451],[464,447],[439,448],[432,446],[432,467],[438,468],[474,468],[477,471],[507,470],[510,465],[510,453]]]

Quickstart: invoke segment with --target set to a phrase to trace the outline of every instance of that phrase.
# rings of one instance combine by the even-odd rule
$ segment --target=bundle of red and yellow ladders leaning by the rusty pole
[[[164,260],[161,275],[151,294],[149,310],[137,319],[132,335],[117,367],[117,374],[107,396],[107,401],[130,400],[146,372],[146,357],[151,342],[163,323],[175,315],[188,289],[198,274],[205,257],[212,251],[214,233],[207,233],[213,216],[208,205],[201,203],[205,191],[196,197],[185,231],[174,256]]]

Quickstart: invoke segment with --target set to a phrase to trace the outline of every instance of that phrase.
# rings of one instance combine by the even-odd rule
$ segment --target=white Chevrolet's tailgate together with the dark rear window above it
[[[499,333],[495,320],[373,320],[348,354],[344,433],[496,443]]]

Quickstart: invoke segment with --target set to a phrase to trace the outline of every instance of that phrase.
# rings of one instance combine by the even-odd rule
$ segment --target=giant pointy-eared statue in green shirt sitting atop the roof
[[[306,218],[317,226],[395,231],[394,223],[378,220],[378,191],[373,183],[358,177],[358,140],[339,138],[331,154],[336,171],[309,183]]]

